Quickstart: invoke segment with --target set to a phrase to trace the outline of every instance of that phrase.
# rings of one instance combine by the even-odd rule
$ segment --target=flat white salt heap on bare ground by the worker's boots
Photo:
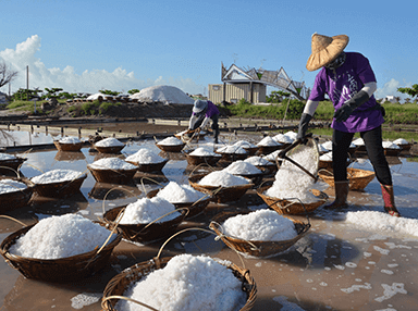
[[[345,221],[367,231],[418,236],[418,220],[394,217],[377,211],[348,212]]]

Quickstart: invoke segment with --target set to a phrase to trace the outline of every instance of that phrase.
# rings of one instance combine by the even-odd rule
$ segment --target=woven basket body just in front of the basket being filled
[[[222,233],[220,225],[231,216],[235,216],[236,212],[221,212],[209,224],[209,227],[222,239],[222,241],[232,250],[236,250],[243,254],[251,257],[272,257],[283,251],[286,251],[293,245],[295,245],[302,237],[304,237],[309,228],[310,223],[307,224],[291,219],[295,225],[297,236],[288,240],[278,241],[263,241],[263,240],[245,240],[236,237],[226,236]]]

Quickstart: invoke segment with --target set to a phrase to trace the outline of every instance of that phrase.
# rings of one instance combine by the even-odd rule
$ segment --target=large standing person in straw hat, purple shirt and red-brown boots
[[[328,209],[346,206],[348,196],[347,154],[355,133],[360,133],[367,154],[378,178],[384,210],[392,216],[399,216],[394,202],[392,174],[382,146],[382,123],[384,110],[376,101],[374,73],[369,60],[357,52],[344,52],[348,37],[334,37],[314,34],[306,69],[319,70],[314,88],[306,102],[299,122],[298,138],[304,138],[309,121],[325,94],[332,101],[335,112],[332,120],[332,159],[335,185],[335,200]]]

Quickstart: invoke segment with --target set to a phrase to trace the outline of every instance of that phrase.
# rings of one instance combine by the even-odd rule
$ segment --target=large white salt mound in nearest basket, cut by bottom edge
[[[179,254],[163,269],[133,283],[124,296],[164,311],[239,310],[246,302],[242,282],[206,256]],[[149,310],[119,300],[118,310]]]

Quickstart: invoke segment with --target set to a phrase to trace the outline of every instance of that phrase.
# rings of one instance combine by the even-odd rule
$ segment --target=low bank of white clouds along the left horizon
[[[156,80],[147,79],[145,82],[135,78],[134,72],[128,73],[122,67],[116,67],[113,72],[86,70],[82,74],[76,74],[71,65],[63,70],[58,67],[47,69],[41,60],[35,55],[38,51],[40,51],[40,37],[38,35],[17,43],[14,50],[5,49],[0,51],[0,59],[3,59],[12,70],[19,72],[17,78],[12,83],[12,92],[19,88],[26,88],[27,65],[29,66],[29,88],[60,87],[69,92],[97,92],[100,89],[126,92],[133,88],[142,89],[156,85],[171,85],[189,94],[198,94],[204,90],[204,87],[197,85],[192,78],[163,78],[159,76]]]

